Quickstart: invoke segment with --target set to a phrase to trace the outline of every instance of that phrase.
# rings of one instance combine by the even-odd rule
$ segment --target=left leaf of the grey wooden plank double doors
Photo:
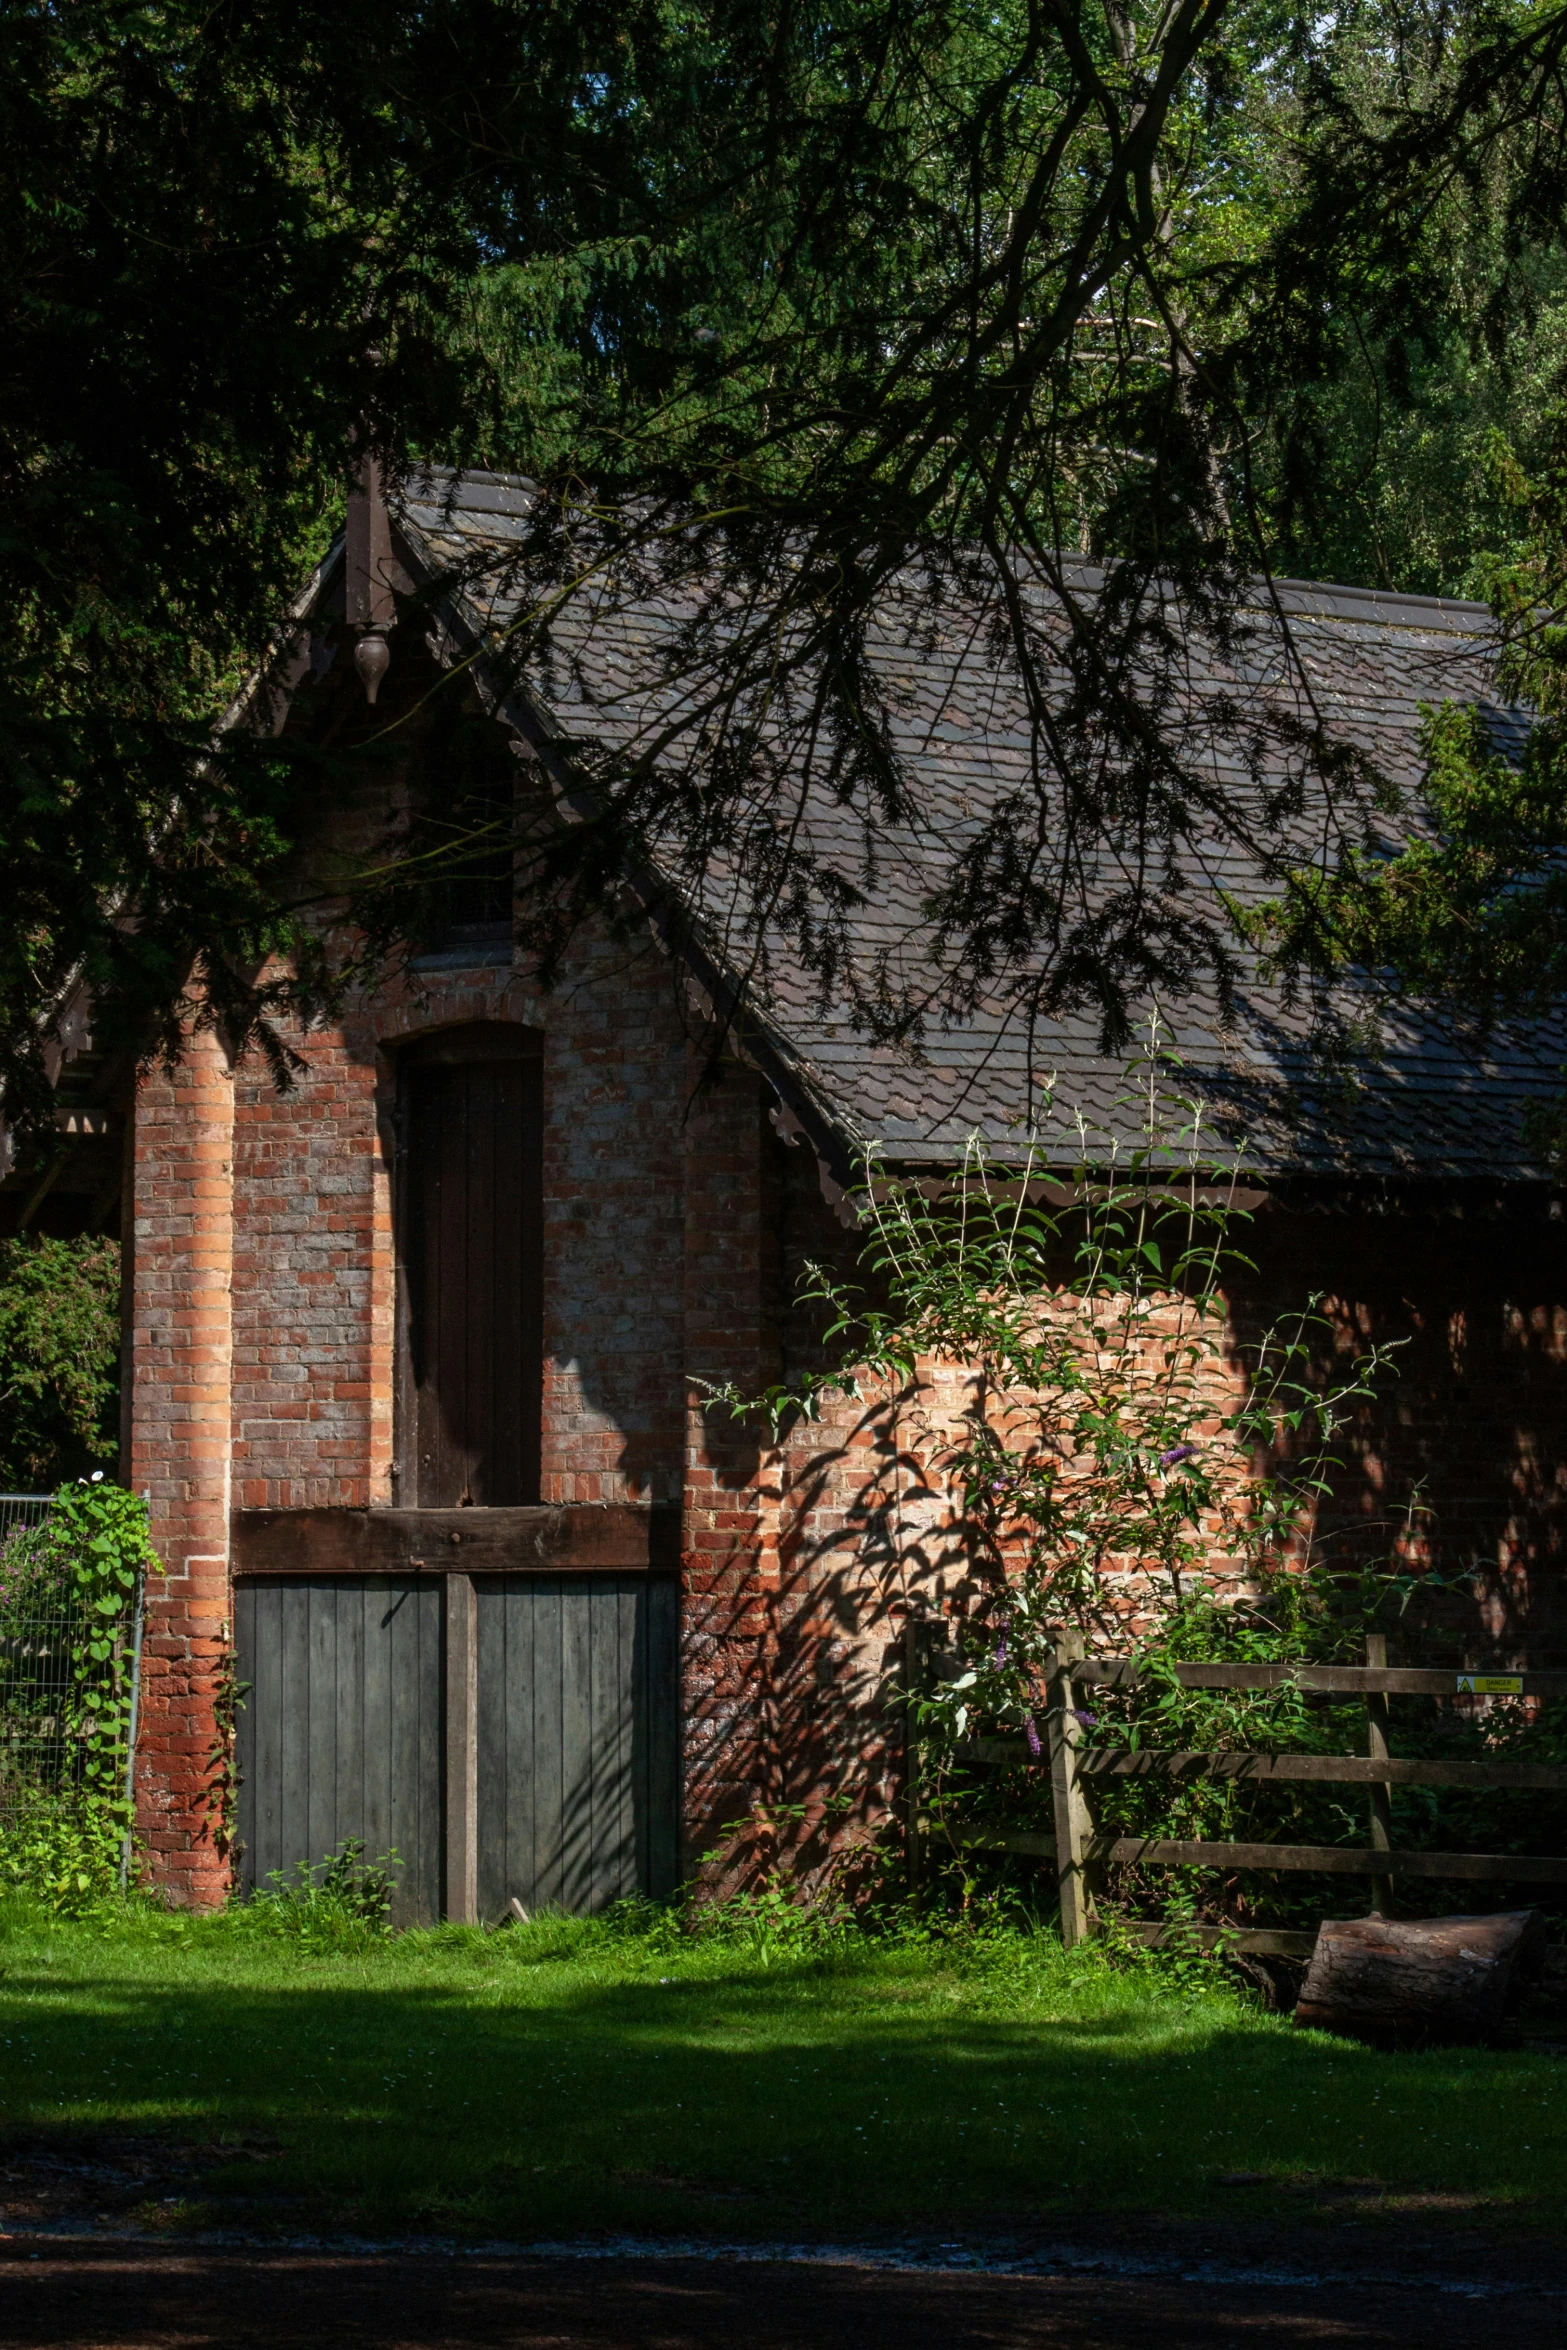
[[[235,1584],[242,1882],[265,1889],[359,1838],[395,1852],[397,1925],[442,1915],[442,1586],[268,1574]]]

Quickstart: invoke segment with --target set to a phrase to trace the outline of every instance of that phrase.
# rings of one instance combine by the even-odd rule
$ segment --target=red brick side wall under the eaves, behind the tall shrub
[[[782,1170],[778,1161],[773,1152],[780,1285],[794,1288],[806,1257],[853,1274],[858,1241],[825,1208],[811,1154],[782,1154]],[[1255,1269],[1231,1295],[1238,1335],[1320,1292],[1323,1375],[1341,1375],[1370,1342],[1395,1349],[1398,1372],[1341,1443],[1320,1513],[1327,1553],[1386,1558],[1421,1499],[1428,1513],[1417,1518],[1424,1537],[1412,1556],[1457,1579],[1424,1614],[1506,1654],[1529,1640],[1551,1659],[1558,1647],[1567,1654],[1562,1222],[1544,1203],[1332,1215],[1273,1203],[1240,1241]],[[808,1311],[785,1314],[780,1335],[787,1372],[822,1361]],[[961,1614],[982,1589],[937,1466],[944,1431],[970,1403],[956,1365],[928,1363],[897,1398],[834,1398],[759,1462],[761,1490],[735,1497],[733,1544],[759,1518],[756,1572],[747,1577],[731,1551],[700,1610],[693,1589],[688,1701],[693,1718],[714,1723],[724,1753],[721,1770],[691,1781],[693,1819],[705,1814],[709,1840],[747,1802],[818,1805],[836,1793],[853,1798],[850,1819],[867,1819],[890,1793],[904,1610]]]

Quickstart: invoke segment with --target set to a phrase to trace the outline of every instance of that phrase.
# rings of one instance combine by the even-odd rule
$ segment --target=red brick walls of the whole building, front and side
[[[686,1847],[756,1814],[822,1805],[865,1831],[900,1765],[895,1659],[912,1603],[963,1607],[968,1556],[930,1455],[963,1410],[959,1370],[895,1403],[834,1401],[778,1450],[702,1403],[811,1358],[789,1307],[801,1262],[848,1267],[808,1147],[785,1149],[768,1088],[707,1069],[665,961],[587,942],[540,999],[510,973],[432,973],[388,992],[277,1095],[195,1039],[148,1076],[134,1137],[134,1455],[169,1565],[148,1633],[141,1826],[179,1899],[216,1899],[204,1810],[214,1673],[228,1626],[233,1506],[385,1504],[392,1476],[392,1055],[475,1018],[543,1029],[545,1429],[550,1502],[684,1495]],[[233,1168],[233,1184],[230,1184]],[[1412,1478],[1435,1556],[1492,1577],[1494,1629],[1555,1622],[1567,1511],[1567,1241],[1560,1224],[1327,1217],[1278,1208],[1250,1241],[1243,1328],[1327,1290],[1351,1332],[1410,1335],[1367,1417],[1341,1511],[1363,1523]],[[230,1290],[233,1281],[233,1290]]]

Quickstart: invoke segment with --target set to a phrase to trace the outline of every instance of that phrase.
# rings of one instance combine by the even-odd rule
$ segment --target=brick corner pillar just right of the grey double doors
[[[693,1058],[688,1088],[698,1086]],[[749,1069],[726,1067],[686,1112],[684,1673],[686,1852],[780,1795],[778,1457],[695,1379],[756,1394],[778,1377],[771,1135]]]

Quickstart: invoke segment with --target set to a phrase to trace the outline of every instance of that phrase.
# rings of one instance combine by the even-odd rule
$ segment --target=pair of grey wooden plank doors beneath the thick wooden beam
[[[357,1838],[399,1925],[667,1899],[677,1612],[646,1572],[244,1577],[244,1887]]]

